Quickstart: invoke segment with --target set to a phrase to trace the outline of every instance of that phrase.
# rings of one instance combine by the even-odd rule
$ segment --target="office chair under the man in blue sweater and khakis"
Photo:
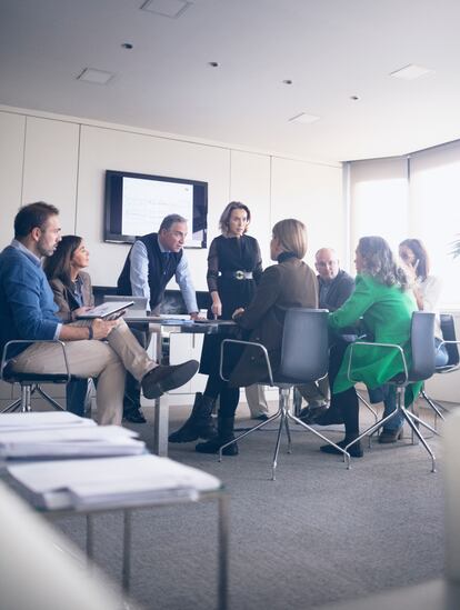
[[[58,343],[62,347],[62,362],[64,364],[64,370],[61,373],[32,373],[32,372],[17,372],[11,367],[11,348],[18,344],[31,346],[32,343]],[[68,383],[72,376],[69,372],[69,363],[67,361],[66,346],[62,341],[52,340],[52,341],[27,341],[27,340],[14,340],[8,341],[3,348],[1,368],[0,368],[0,379],[7,381],[7,383],[19,383],[21,387],[21,397],[9,404],[1,412],[12,412],[12,411],[30,411],[31,410],[31,398],[34,392],[38,392],[51,407],[56,410],[63,411],[64,409],[51,398],[47,392],[41,388],[41,383]]]

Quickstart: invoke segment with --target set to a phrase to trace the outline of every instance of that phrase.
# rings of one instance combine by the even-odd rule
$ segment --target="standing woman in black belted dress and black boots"
[[[246,234],[250,220],[249,208],[239,201],[231,201],[220,217],[219,227],[222,234],[212,240],[208,256],[210,320],[231,320],[232,313],[239,308],[246,308],[256,293],[257,283],[262,276],[262,258],[257,240]],[[208,382],[203,394],[197,393],[189,419],[182,428],[170,434],[170,442],[214,438],[216,429],[211,412],[219,396],[221,407],[231,403],[234,404],[234,409],[237,408],[239,388],[229,388],[219,376],[221,341],[218,336],[204,337],[200,372],[208,374]],[[236,446],[228,449],[234,451]]]

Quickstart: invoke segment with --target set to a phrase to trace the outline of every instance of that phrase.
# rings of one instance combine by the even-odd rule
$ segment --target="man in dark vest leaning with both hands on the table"
[[[146,297],[153,314],[160,312],[168,282],[174,276],[190,318],[198,317],[197,297],[183,252],[187,238],[187,220],[169,214],[161,221],[158,233],[140,237],[131,248],[118,278],[118,293]],[[147,348],[146,338],[143,347]],[[146,421],[140,410],[140,387],[127,376],[123,401],[124,419],[134,423]]]

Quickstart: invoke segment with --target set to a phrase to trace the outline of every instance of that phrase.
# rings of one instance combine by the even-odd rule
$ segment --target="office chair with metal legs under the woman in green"
[[[398,412],[401,412],[404,417],[404,420],[411,427],[413,433],[417,436],[417,438],[420,440],[420,442],[430,454],[431,472],[436,472],[434,453],[432,452],[426,439],[422,437],[418,424],[427,428],[434,434],[439,433],[432,426],[420,419],[418,416],[416,416],[413,412],[409,411],[404,407],[404,391],[407,386],[417,381],[424,381],[426,379],[429,379],[434,372],[434,313],[428,313],[424,311],[416,311],[412,313],[410,341],[412,352],[412,364],[410,369],[408,367],[404,352],[400,346],[391,343],[373,343],[368,341],[351,344],[348,360],[348,378],[353,383],[357,383],[359,381],[357,379],[353,379],[351,374],[353,353],[356,353],[357,350],[369,349],[369,347],[380,347],[383,349],[397,351],[401,358],[403,372],[397,374],[388,381],[388,383],[396,386],[397,389],[396,410],[389,416],[379,420],[367,430],[364,430],[364,432],[362,432],[357,439],[354,439],[349,446],[347,446],[346,449],[349,449],[352,444],[361,440],[363,437],[372,434],[376,430],[384,426],[387,421],[390,421],[390,419],[392,419]]]

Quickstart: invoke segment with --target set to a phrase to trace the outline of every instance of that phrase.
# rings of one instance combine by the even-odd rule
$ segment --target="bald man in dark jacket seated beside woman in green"
[[[354,290],[354,280],[340,269],[339,259],[332,248],[321,248],[314,256],[314,267],[318,271],[319,307],[336,311]],[[318,417],[320,411],[328,407],[329,381],[326,377],[317,383],[298,386],[300,394],[308,401],[308,408],[300,412],[301,418]]]

